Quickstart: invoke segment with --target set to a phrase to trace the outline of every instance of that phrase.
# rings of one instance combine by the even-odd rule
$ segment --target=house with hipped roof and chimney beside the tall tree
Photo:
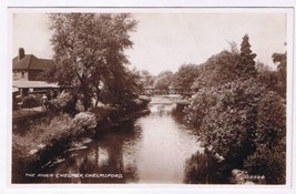
[[[13,81],[45,81],[40,73],[52,63],[53,60],[25,54],[24,49],[20,48],[18,57],[12,59]]]

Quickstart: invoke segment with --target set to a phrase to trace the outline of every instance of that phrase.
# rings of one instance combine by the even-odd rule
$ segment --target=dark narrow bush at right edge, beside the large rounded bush
[[[286,114],[279,94],[267,92],[259,101],[257,130],[254,136],[256,151],[245,161],[252,174],[265,175],[272,184],[285,184]]]

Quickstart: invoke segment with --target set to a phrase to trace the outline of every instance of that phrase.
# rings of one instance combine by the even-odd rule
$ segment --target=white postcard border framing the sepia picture
[[[226,3],[225,3],[226,2]],[[74,7],[88,7],[88,8],[74,8]],[[125,184],[125,185],[99,185],[99,184],[86,184],[86,185],[75,185],[75,184],[58,184],[58,185],[51,185],[51,184],[40,184],[40,185],[33,185],[33,184],[25,184],[25,185],[11,185],[10,184],[10,176],[7,176],[7,173],[4,172],[10,172],[10,164],[11,164],[11,160],[10,160],[10,149],[11,147],[11,135],[10,135],[10,131],[8,129],[11,129],[11,110],[10,110],[10,105],[11,104],[11,80],[9,78],[11,78],[11,61],[9,59],[11,57],[11,37],[9,35],[9,24],[11,24],[11,21],[9,20],[9,14],[11,13],[10,10],[17,10],[17,9],[8,9],[8,7],[71,7],[71,11],[73,10],[84,10],[84,11],[94,11],[94,8],[90,8],[90,7],[183,7],[181,9],[181,11],[183,12],[184,10],[193,10],[192,8],[187,8],[185,9],[184,7],[242,7],[242,8],[237,8],[237,11],[242,11],[244,10],[243,7],[266,7],[266,8],[271,8],[271,7],[293,7],[295,8],[295,2],[294,1],[284,1],[284,0],[279,0],[279,1],[275,1],[275,0],[266,0],[266,1],[261,1],[261,2],[256,2],[256,1],[245,1],[245,2],[237,2],[237,1],[224,1],[224,3],[222,3],[221,1],[214,1],[214,0],[210,0],[210,1],[191,1],[191,0],[186,0],[186,1],[149,1],[149,2],[144,2],[141,1],[141,3],[139,3],[139,1],[131,1],[131,0],[125,0],[123,1],[89,1],[85,4],[85,1],[83,0],[72,0],[71,3],[65,3],[65,2],[61,2],[61,1],[33,1],[33,0],[12,0],[9,3],[8,2],[1,2],[1,10],[0,10],[0,18],[1,18],[1,23],[0,23],[0,33],[1,37],[3,37],[3,41],[1,41],[3,44],[1,47],[1,54],[0,54],[0,60],[2,62],[2,71],[0,71],[0,75],[1,75],[1,82],[0,82],[0,89],[2,91],[7,91],[4,92],[3,95],[0,95],[0,102],[8,102],[8,103],[1,103],[1,123],[3,123],[2,127],[2,135],[1,136],[1,150],[2,152],[0,153],[6,153],[6,157],[3,160],[0,160],[0,166],[2,169],[2,173],[0,173],[0,180],[1,180],[1,184],[0,184],[0,188],[1,191],[3,191],[3,193],[65,193],[65,192],[70,192],[70,193],[81,193],[81,192],[89,192],[89,193],[98,193],[103,192],[103,193],[196,193],[198,192],[203,192],[203,193],[216,193],[216,192],[227,192],[227,193],[293,193],[293,191],[295,190],[295,176],[294,174],[295,172],[295,166],[292,165],[292,162],[295,163],[295,159],[293,157],[292,151],[293,147],[296,146],[295,143],[295,132],[293,133],[293,129],[295,127],[295,123],[293,123],[293,115],[296,109],[295,102],[293,101],[294,98],[294,92],[296,90],[295,84],[288,84],[288,96],[287,96],[287,123],[288,123],[288,127],[287,127],[287,144],[293,143],[293,146],[287,146],[287,173],[292,172],[292,176],[287,176],[287,185],[284,186],[241,186],[241,185],[175,185],[175,184]],[[32,9],[27,8],[27,9],[21,9],[24,11],[31,11]],[[33,9],[34,11],[39,11],[38,9]],[[64,11],[69,11],[69,9],[61,9],[58,8],[57,11],[60,10],[64,10]],[[98,9],[95,9],[98,10]],[[105,9],[100,9],[100,10],[105,10]],[[124,9],[124,10],[129,10]],[[135,9],[132,9],[132,11]],[[151,12],[151,10],[145,10],[144,8],[140,8],[136,9],[141,12],[143,11],[147,11]],[[157,11],[167,11],[167,9],[155,9],[153,11],[157,12]],[[204,11],[208,11],[212,10],[212,8],[210,9],[204,9]],[[215,9],[214,9],[215,10]],[[225,9],[224,9],[225,10]],[[227,9],[226,9],[227,10]],[[255,9],[259,10],[259,9]],[[273,10],[273,9],[268,9],[268,10]],[[40,9],[41,12],[44,11],[52,11],[52,9]],[[112,8],[108,8],[106,9],[108,12],[113,12],[113,11],[122,11],[121,9],[112,9]],[[130,10],[129,10],[130,11]],[[170,11],[180,11],[177,8],[176,9],[171,9]],[[268,12],[268,11],[267,11]],[[287,44],[287,52],[288,52],[288,69],[287,69],[287,80],[288,83],[293,83],[294,79],[293,79],[293,74],[295,74],[295,68],[293,68],[294,65],[294,54],[295,54],[295,10],[293,12],[288,13],[288,18],[287,18],[287,22],[290,24],[288,24],[288,44]],[[293,44],[290,44],[289,42],[293,42]],[[293,50],[294,49],[294,50]],[[10,51],[10,52],[9,52]],[[294,89],[294,91],[293,91]],[[292,109],[294,108],[294,109]],[[7,114],[8,113],[8,114]],[[294,140],[294,141],[292,141]],[[4,154],[2,154],[4,155]],[[10,173],[9,173],[10,174]],[[293,183],[292,183],[293,182]],[[72,190],[74,188],[74,190]],[[295,192],[295,191],[294,191]],[[1,192],[2,193],[2,192]]]

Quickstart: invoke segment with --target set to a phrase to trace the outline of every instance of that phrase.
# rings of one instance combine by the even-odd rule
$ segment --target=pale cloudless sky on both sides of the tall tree
[[[157,74],[177,71],[184,63],[201,64],[211,55],[241,45],[247,33],[256,61],[273,65],[272,54],[285,52],[286,14],[284,12],[133,12],[139,21],[131,32],[133,49],[126,51],[131,68]],[[51,59],[51,32],[44,13],[13,13],[12,54],[18,48],[38,58]]]

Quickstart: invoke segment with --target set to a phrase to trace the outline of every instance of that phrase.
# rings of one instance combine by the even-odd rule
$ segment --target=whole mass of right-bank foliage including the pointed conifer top
[[[276,71],[256,67],[248,37],[241,53],[232,49],[198,67],[198,89],[184,110],[203,145],[224,157],[228,170],[286,181],[286,54],[274,54]],[[256,69],[257,68],[257,69]]]

